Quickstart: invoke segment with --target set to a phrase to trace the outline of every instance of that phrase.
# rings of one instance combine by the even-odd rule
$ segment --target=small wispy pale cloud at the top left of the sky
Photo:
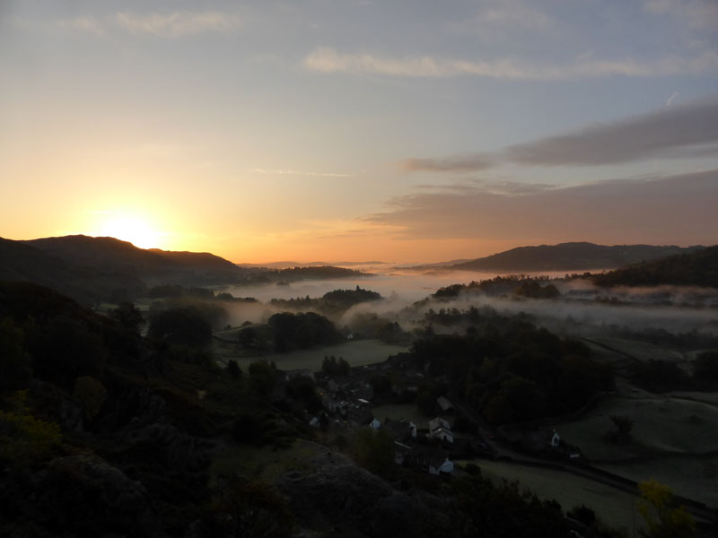
[[[241,18],[222,12],[174,12],[174,13],[116,13],[114,22],[123,30],[134,34],[152,34],[160,37],[179,38],[207,32],[231,32],[241,27]]]

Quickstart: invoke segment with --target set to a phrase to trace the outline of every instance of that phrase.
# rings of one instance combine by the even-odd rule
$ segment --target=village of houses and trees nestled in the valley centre
[[[391,374],[394,384],[380,394],[372,381],[386,380],[387,373]],[[528,428],[521,430],[519,436],[509,435],[500,428],[491,428],[477,412],[455,404],[457,399],[451,395],[436,396],[431,405],[433,412],[421,413],[415,401],[419,387],[427,380],[426,374],[413,368],[401,355],[342,373],[297,369],[277,374],[284,383],[307,377],[316,385],[321,410],[303,412],[311,428],[335,434],[361,429],[385,431],[393,440],[394,463],[417,473],[448,478],[454,473],[455,462],[475,458],[529,457],[556,461],[581,457],[576,447],[561,441],[556,430]],[[442,381],[441,378],[432,380]],[[276,390],[281,392],[281,386],[282,383],[277,384]],[[416,412],[412,414],[424,414],[425,421],[382,416],[384,404],[392,403],[414,405]]]

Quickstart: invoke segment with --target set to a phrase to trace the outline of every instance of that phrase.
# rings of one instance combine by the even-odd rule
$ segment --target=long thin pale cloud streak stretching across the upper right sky
[[[343,74],[381,74],[416,78],[479,76],[503,80],[556,81],[605,76],[665,76],[718,72],[718,53],[705,51],[699,56],[665,56],[640,62],[632,58],[600,60],[576,59],[564,65],[540,65],[537,62],[503,58],[465,60],[434,56],[391,58],[371,54],[340,54],[333,48],[317,48],[302,65],[310,71]]]

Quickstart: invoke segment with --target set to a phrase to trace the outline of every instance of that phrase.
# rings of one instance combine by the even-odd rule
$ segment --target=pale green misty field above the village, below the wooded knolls
[[[237,356],[232,352],[232,346],[215,346],[215,356],[220,362],[234,359],[240,368],[246,371],[251,362],[259,359],[273,360],[276,368],[283,370],[309,369],[320,371],[321,361],[324,357],[334,355],[343,357],[351,366],[363,366],[387,360],[390,355],[407,351],[406,347],[390,345],[380,340],[354,340],[352,342],[338,343],[311,350],[291,351],[289,353],[268,353],[261,356]]]

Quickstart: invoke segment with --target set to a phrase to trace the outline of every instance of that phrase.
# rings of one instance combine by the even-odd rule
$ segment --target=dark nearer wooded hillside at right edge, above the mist
[[[701,286],[718,288],[718,246],[593,275],[599,286]]]

